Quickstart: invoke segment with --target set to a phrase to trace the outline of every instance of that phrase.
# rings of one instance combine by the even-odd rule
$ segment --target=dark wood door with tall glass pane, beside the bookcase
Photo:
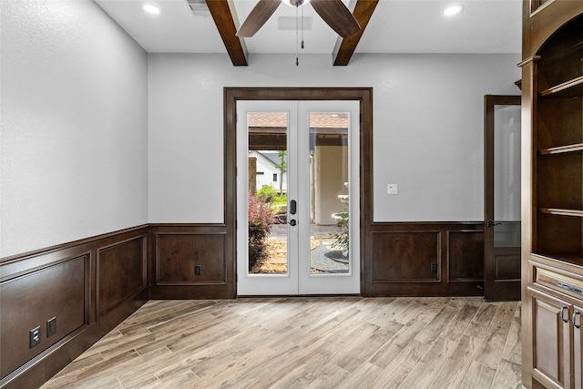
[[[486,95],[484,297],[520,299],[520,97]]]

